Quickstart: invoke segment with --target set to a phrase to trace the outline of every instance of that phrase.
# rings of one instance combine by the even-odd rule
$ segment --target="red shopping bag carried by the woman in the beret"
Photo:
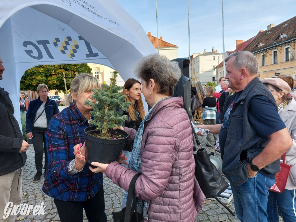
[[[281,163],[281,170],[276,174],[276,181],[269,189],[270,191],[283,193],[289,177],[291,166],[285,163],[286,153],[283,154],[283,163]]]

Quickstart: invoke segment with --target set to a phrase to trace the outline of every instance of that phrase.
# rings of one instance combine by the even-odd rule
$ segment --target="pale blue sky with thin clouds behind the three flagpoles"
[[[155,0],[117,0],[143,27],[157,36]],[[187,0],[158,0],[158,36],[178,46],[178,58],[188,57]],[[224,0],[225,51],[235,50],[236,40],[247,41],[271,23],[278,25],[296,16],[295,0]],[[190,54],[223,52],[222,0],[189,0]]]

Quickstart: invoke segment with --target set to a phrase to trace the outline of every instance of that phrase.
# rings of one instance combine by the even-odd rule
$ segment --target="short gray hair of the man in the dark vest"
[[[234,52],[227,56],[224,61],[227,62],[229,59],[234,58],[232,67],[239,70],[245,68],[251,74],[258,73],[258,61],[257,57],[249,51]]]

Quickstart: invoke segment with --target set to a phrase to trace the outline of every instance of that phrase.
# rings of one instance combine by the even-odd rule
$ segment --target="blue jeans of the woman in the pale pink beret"
[[[279,210],[283,215],[285,222],[295,222],[296,221],[296,194],[295,190],[284,190],[284,192],[277,193],[269,191],[268,202],[267,202],[267,213],[268,222],[278,222],[279,221]]]

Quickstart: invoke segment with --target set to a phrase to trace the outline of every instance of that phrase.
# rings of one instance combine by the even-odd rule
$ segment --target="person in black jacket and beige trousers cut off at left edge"
[[[0,58],[0,80],[5,70]],[[9,94],[0,88],[0,221],[4,218],[5,206],[12,202],[14,206],[22,201],[22,167],[25,165],[26,150],[29,144],[23,140],[20,126],[13,116],[14,108]],[[11,212],[5,221],[15,221]]]

